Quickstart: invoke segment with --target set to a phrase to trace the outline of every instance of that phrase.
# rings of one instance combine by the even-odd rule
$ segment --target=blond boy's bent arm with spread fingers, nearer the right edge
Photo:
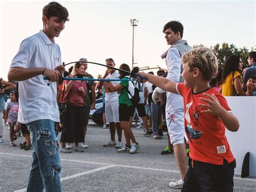
[[[201,112],[204,113],[211,113],[214,116],[219,117],[221,122],[225,125],[227,130],[230,131],[238,131],[239,129],[239,121],[237,117],[235,117],[232,113],[228,112],[226,109],[223,108],[223,106],[220,105],[217,97],[212,94],[208,95],[204,93],[207,98],[200,97],[199,99],[201,101],[206,102],[207,104],[199,103],[198,106],[201,106],[202,108],[205,108],[206,110],[202,110]]]

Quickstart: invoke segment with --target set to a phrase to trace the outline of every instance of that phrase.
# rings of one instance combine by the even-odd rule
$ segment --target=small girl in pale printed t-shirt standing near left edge
[[[11,101],[8,103],[6,111],[5,111],[5,123],[6,120],[8,121],[10,127],[10,146],[16,147],[17,145],[14,143],[14,140],[17,139],[16,133],[14,131],[14,127],[17,126],[17,119],[18,119],[18,103],[19,94],[18,91],[11,91],[10,99]]]

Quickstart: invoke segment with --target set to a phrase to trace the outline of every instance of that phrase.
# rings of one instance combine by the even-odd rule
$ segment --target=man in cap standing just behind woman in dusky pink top
[[[81,58],[79,61],[87,61],[86,58]],[[82,65],[84,66],[84,73],[83,77],[87,79],[93,79],[93,76],[89,73],[87,73],[87,63],[82,62]],[[89,115],[90,110],[95,109],[95,100],[96,100],[96,94],[95,94],[95,81],[86,81],[86,96],[84,98],[84,101],[86,103],[85,109],[84,109],[84,142],[81,144],[83,148],[88,148],[88,145],[85,142],[86,132],[87,132],[87,125],[89,122]]]

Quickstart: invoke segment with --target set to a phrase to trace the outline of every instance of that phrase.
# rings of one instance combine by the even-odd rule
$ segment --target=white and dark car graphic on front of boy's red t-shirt
[[[188,111],[189,111],[191,105],[192,105],[192,102],[190,102],[186,105],[185,119],[187,121],[187,126],[186,126],[185,131],[189,134],[191,139],[199,139],[201,137],[202,132],[194,129],[193,126],[190,124],[191,118],[190,118],[190,114],[188,113]],[[192,119],[198,120],[198,118],[199,118],[199,115],[198,115],[198,110],[196,107],[195,109],[192,109]]]

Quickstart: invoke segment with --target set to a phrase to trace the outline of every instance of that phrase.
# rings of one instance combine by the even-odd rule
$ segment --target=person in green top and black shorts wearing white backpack
[[[123,63],[120,65],[119,69],[126,70],[127,72],[131,72],[130,67]],[[129,73],[119,71],[120,79],[127,79],[129,80]],[[132,102],[130,100],[129,94],[127,90],[134,90],[134,86],[131,81],[120,81],[117,86],[113,86],[111,82],[108,83],[109,88],[111,91],[118,91],[120,92],[119,95],[119,120],[120,126],[124,130],[125,136],[125,145],[122,145],[122,148],[117,150],[118,152],[129,152],[129,153],[136,153],[139,149],[139,144],[137,143],[134,135],[132,133],[131,127],[129,126],[129,120],[132,113]],[[108,87],[108,86],[107,86]],[[132,145],[131,145],[132,140]]]

